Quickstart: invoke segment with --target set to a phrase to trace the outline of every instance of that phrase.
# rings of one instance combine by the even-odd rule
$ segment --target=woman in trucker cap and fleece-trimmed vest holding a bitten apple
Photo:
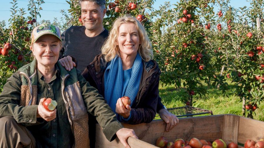
[[[35,27],[30,49],[34,60],[13,73],[0,94],[1,147],[89,147],[87,111],[109,141],[116,134],[126,147],[129,136],[137,138],[79,71],[58,64],[58,27]],[[46,98],[57,101],[55,110],[45,110]]]

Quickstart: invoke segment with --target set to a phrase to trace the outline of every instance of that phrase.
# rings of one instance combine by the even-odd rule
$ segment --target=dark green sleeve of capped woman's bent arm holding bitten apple
[[[0,94],[0,117],[11,116],[17,123],[25,126],[38,124],[38,105],[19,106],[21,97],[21,78],[15,72],[7,79]]]

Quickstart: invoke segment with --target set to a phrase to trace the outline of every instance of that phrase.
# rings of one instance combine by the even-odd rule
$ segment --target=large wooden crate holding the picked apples
[[[154,148],[156,140],[160,136],[164,136],[172,142],[178,138],[190,140],[193,137],[207,141],[223,139],[226,144],[230,142],[244,144],[248,139],[258,141],[264,138],[263,121],[233,114],[186,117],[179,118],[179,120],[179,124],[169,132],[165,131],[166,124],[163,120],[154,120],[151,123],[138,125],[123,124],[125,128],[133,129],[139,138],[129,137],[128,144],[131,148]],[[96,125],[95,139],[95,147],[123,147],[118,139],[109,142],[98,124]]]

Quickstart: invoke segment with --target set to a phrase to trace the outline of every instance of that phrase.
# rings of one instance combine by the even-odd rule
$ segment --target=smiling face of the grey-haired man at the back
[[[82,22],[87,30],[93,31],[103,26],[103,18],[106,9],[101,11],[99,5],[94,4],[92,1],[83,1],[81,3]]]

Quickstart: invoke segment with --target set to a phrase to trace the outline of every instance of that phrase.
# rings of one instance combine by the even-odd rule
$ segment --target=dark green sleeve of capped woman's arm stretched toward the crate
[[[116,137],[116,132],[123,128],[117,120],[116,114],[111,110],[105,99],[98,93],[97,89],[90,86],[78,70],[78,80],[82,91],[84,104],[87,111],[96,117],[99,125],[103,128],[106,139],[112,141]]]

